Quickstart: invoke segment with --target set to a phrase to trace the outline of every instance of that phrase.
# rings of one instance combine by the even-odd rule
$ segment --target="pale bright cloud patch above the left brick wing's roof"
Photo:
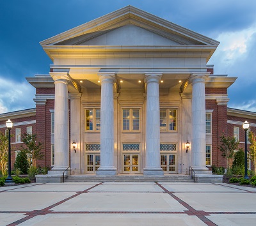
[[[35,107],[35,88],[28,82],[4,79],[0,75],[0,114]]]

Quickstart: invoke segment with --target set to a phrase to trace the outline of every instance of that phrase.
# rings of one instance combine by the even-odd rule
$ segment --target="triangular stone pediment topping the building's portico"
[[[132,37],[132,34],[135,36]],[[108,36],[113,39],[106,39]],[[145,42],[143,42],[143,36],[146,36]],[[124,43],[127,45],[216,45],[216,47],[219,44],[218,41],[133,6],[126,6],[40,42],[43,47],[45,45],[123,45]]]

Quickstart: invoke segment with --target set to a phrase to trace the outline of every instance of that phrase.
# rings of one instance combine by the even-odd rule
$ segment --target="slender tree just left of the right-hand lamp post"
[[[239,145],[239,141],[236,141],[235,137],[220,137],[221,145],[218,147],[221,151],[221,156],[227,159],[227,169],[231,169],[234,158],[234,153]]]

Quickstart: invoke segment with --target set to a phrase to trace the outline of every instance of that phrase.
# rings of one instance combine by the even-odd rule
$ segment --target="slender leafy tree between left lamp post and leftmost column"
[[[35,167],[36,160],[44,159],[44,153],[41,152],[43,144],[36,140],[36,134],[24,133],[21,137],[22,142],[26,145],[26,147],[22,146],[22,151],[28,153],[29,162]]]

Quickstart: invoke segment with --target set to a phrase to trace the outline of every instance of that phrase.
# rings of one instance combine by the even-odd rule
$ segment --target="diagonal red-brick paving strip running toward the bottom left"
[[[99,185],[102,185],[103,182],[99,183],[99,184],[96,184],[90,188],[87,188],[86,190],[82,191],[82,192],[77,192],[75,195],[72,195],[66,199],[63,199],[59,202],[56,202],[55,204],[52,204],[51,206],[48,206],[48,207],[45,207],[44,209],[40,209],[40,210],[33,210],[33,211],[28,211],[25,215],[28,215],[20,220],[17,220],[16,222],[13,222],[13,223],[10,223],[6,226],[15,226],[15,225],[19,225],[20,223],[23,223],[23,222],[26,222],[27,220],[35,217],[35,216],[38,216],[38,215],[45,215],[47,213],[51,213],[52,211],[50,211],[49,209],[51,209],[52,207],[56,207],[60,204],[63,204],[63,202],[66,202],[67,200],[70,200],[70,199],[73,199],[74,197],[77,197],[78,195],[81,195],[82,193],[86,193],[88,192],[90,189],[92,188],[95,188],[96,186],[99,186]]]

